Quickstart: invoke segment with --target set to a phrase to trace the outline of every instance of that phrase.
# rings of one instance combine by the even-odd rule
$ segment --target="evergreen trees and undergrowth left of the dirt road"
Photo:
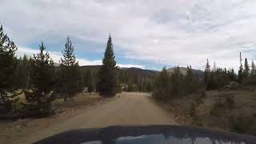
[[[156,72],[146,73],[116,66],[109,37],[102,66],[79,66],[70,37],[63,46],[61,61],[50,58],[44,42],[38,54],[17,58],[18,47],[0,27],[0,119],[42,118],[56,114],[59,100],[76,103],[77,95],[114,97],[126,91],[153,90]],[[139,74],[137,74],[139,73]]]

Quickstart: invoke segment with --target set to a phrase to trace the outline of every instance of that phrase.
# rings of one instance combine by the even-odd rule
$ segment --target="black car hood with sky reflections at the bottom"
[[[110,126],[70,130],[35,144],[256,144],[256,137],[187,126]]]

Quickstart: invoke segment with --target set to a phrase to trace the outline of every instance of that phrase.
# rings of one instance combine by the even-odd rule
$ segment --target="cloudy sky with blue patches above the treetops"
[[[111,34],[119,66],[238,69],[256,59],[255,0],[1,0],[0,23],[22,55],[44,42],[58,62],[69,35],[80,65],[101,64]]]

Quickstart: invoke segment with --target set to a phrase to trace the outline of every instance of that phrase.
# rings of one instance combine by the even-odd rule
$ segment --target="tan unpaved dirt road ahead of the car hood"
[[[119,96],[120,98],[113,98],[109,102],[91,106],[83,110],[81,114],[74,115],[62,122],[54,122],[43,130],[34,131],[26,138],[19,139],[19,142],[35,142],[72,129],[113,125],[175,124],[173,116],[152,102],[149,94],[122,93]]]

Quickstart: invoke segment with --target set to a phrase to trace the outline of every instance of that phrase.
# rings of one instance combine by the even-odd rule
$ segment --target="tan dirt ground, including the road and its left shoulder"
[[[93,104],[62,109],[50,118],[2,122],[0,143],[31,143],[62,131],[81,128],[176,124],[173,115],[156,105],[150,94],[122,93],[104,100],[94,97],[97,100]]]

